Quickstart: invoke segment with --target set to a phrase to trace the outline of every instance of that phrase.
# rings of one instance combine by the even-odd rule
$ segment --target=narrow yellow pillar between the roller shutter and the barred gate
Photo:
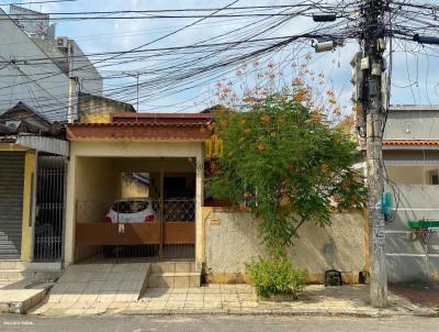
[[[32,261],[32,175],[35,174],[35,154],[26,153],[24,162],[23,213],[21,233],[21,261]],[[30,226],[31,225],[31,226]]]

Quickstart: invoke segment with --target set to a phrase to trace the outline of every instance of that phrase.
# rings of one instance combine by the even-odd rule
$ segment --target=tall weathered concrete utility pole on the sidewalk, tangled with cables
[[[387,303],[385,229],[384,214],[381,210],[381,198],[384,192],[382,125],[385,112],[382,100],[382,75],[385,70],[383,8],[383,0],[364,2],[363,57],[361,59],[369,187],[370,297],[372,306],[379,308]]]

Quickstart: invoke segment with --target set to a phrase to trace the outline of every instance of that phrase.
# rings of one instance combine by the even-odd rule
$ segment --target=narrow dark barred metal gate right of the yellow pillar
[[[34,262],[57,262],[63,257],[65,177],[64,156],[38,155],[34,210]]]

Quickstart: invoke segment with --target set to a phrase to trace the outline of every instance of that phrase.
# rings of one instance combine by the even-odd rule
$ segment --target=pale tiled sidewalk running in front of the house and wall
[[[375,309],[369,305],[369,287],[347,285],[325,287],[306,286],[297,301],[258,301],[248,285],[211,284],[200,288],[150,288],[137,301],[123,299],[120,294],[104,297],[87,297],[85,294],[69,294],[61,301],[59,297],[47,297],[30,314],[45,317],[65,316],[114,316],[114,314],[281,314],[281,316],[353,316],[435,317],[436,311],[390,294],[389,307]]]

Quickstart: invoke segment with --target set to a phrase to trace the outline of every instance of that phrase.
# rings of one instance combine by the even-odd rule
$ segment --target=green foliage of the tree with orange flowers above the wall
[[[305,222],[330,223],[335,209],[362,208],[357,143],[304,103],[306,91],[274,93],[248,111],[223,111],[214,131],[224,142],[210,190],[254,213],[273,258],[285,257]]]

